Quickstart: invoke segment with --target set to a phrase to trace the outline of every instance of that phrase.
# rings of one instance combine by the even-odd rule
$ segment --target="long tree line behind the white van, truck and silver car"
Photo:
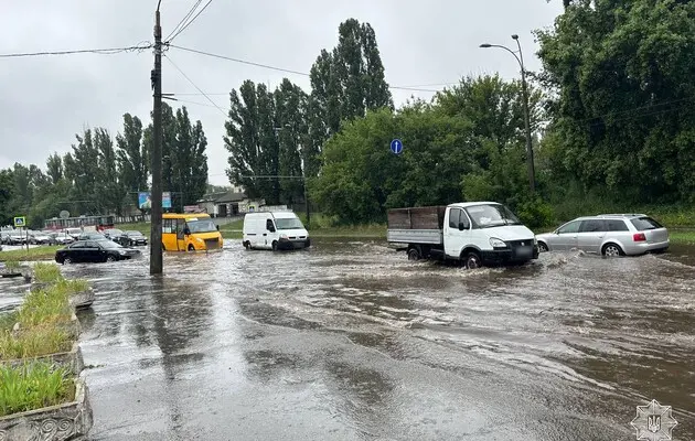
[[[248,80],[232,92],[228,175],[271,201],[309,197],[340,223],[383,222],[389,207],[493,200],[531,225],[580,213],[695,202],[695,2],[564,1],[536,31],[528,73],[536,192],[522,88],[464,77],[430,101],[394,108],[374,30],[348,20],[311,67],[311,90]],[[503,56],[500,54],[500,56]],[[297,105],[285,106],[285,103]],[[393,154],[399,138],[404,152]],[[302,164],[301,166],[298,164]]]

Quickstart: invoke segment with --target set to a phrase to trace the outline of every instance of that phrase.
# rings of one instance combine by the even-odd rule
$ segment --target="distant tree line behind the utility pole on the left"
[[[207,140],[201,121],[192,122],[185,107],[162,104],[163,189],[172,207],[195,204],[207,185]],[[0,170],[0,225],[25,215],[40,228],[46,218],[67,211],[72,216],[118,214],[138,205],[138,192],[150,189],[152,125],[124,115],[122,130],[111,136],[103,127],[75,136],[71,151],[51,154],[45,169],[15,163]]]

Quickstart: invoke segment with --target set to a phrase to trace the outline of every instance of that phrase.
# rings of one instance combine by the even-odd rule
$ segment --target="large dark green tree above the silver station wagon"
[[[695,201],[695,2],[575,0],[538,40],[555,182],[623,202]]]

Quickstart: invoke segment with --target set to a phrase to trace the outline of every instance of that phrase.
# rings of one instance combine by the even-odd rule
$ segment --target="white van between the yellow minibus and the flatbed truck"
[[[246,249],[299,249],[311,245],[309,233],[293,212],[257,212],[244,216]]]

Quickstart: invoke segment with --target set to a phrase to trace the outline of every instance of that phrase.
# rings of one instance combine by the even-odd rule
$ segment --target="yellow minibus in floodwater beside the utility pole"
[[[220,227],[209,214],[162,214],[164,251],[197,251],[222,248]]]

